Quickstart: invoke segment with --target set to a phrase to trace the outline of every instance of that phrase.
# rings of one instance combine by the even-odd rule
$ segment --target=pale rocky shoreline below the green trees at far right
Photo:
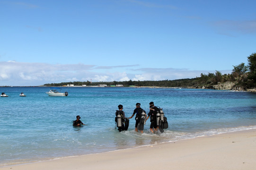
[[[256,92],[256,88],[247,89],[243,86],[236,85],[234,82],[219,83],[218,85],[202,85],[202,86],[195,86],[192,88]]]

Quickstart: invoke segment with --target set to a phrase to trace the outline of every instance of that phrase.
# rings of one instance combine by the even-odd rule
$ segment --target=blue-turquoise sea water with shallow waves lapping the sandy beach
[[[50,97],[48,87],[0,87],[0,167],[60,157],[102,153],[197,136],[256,128],[256,93],[179,88],[64,87],[67,97]],[[19,97],[24,92],[26,97]],[[151,134],[115,129],[122,104],[130,117],[137,102],[163,108],[169,127]],[[83,127],[73,127],[80,115]]]

